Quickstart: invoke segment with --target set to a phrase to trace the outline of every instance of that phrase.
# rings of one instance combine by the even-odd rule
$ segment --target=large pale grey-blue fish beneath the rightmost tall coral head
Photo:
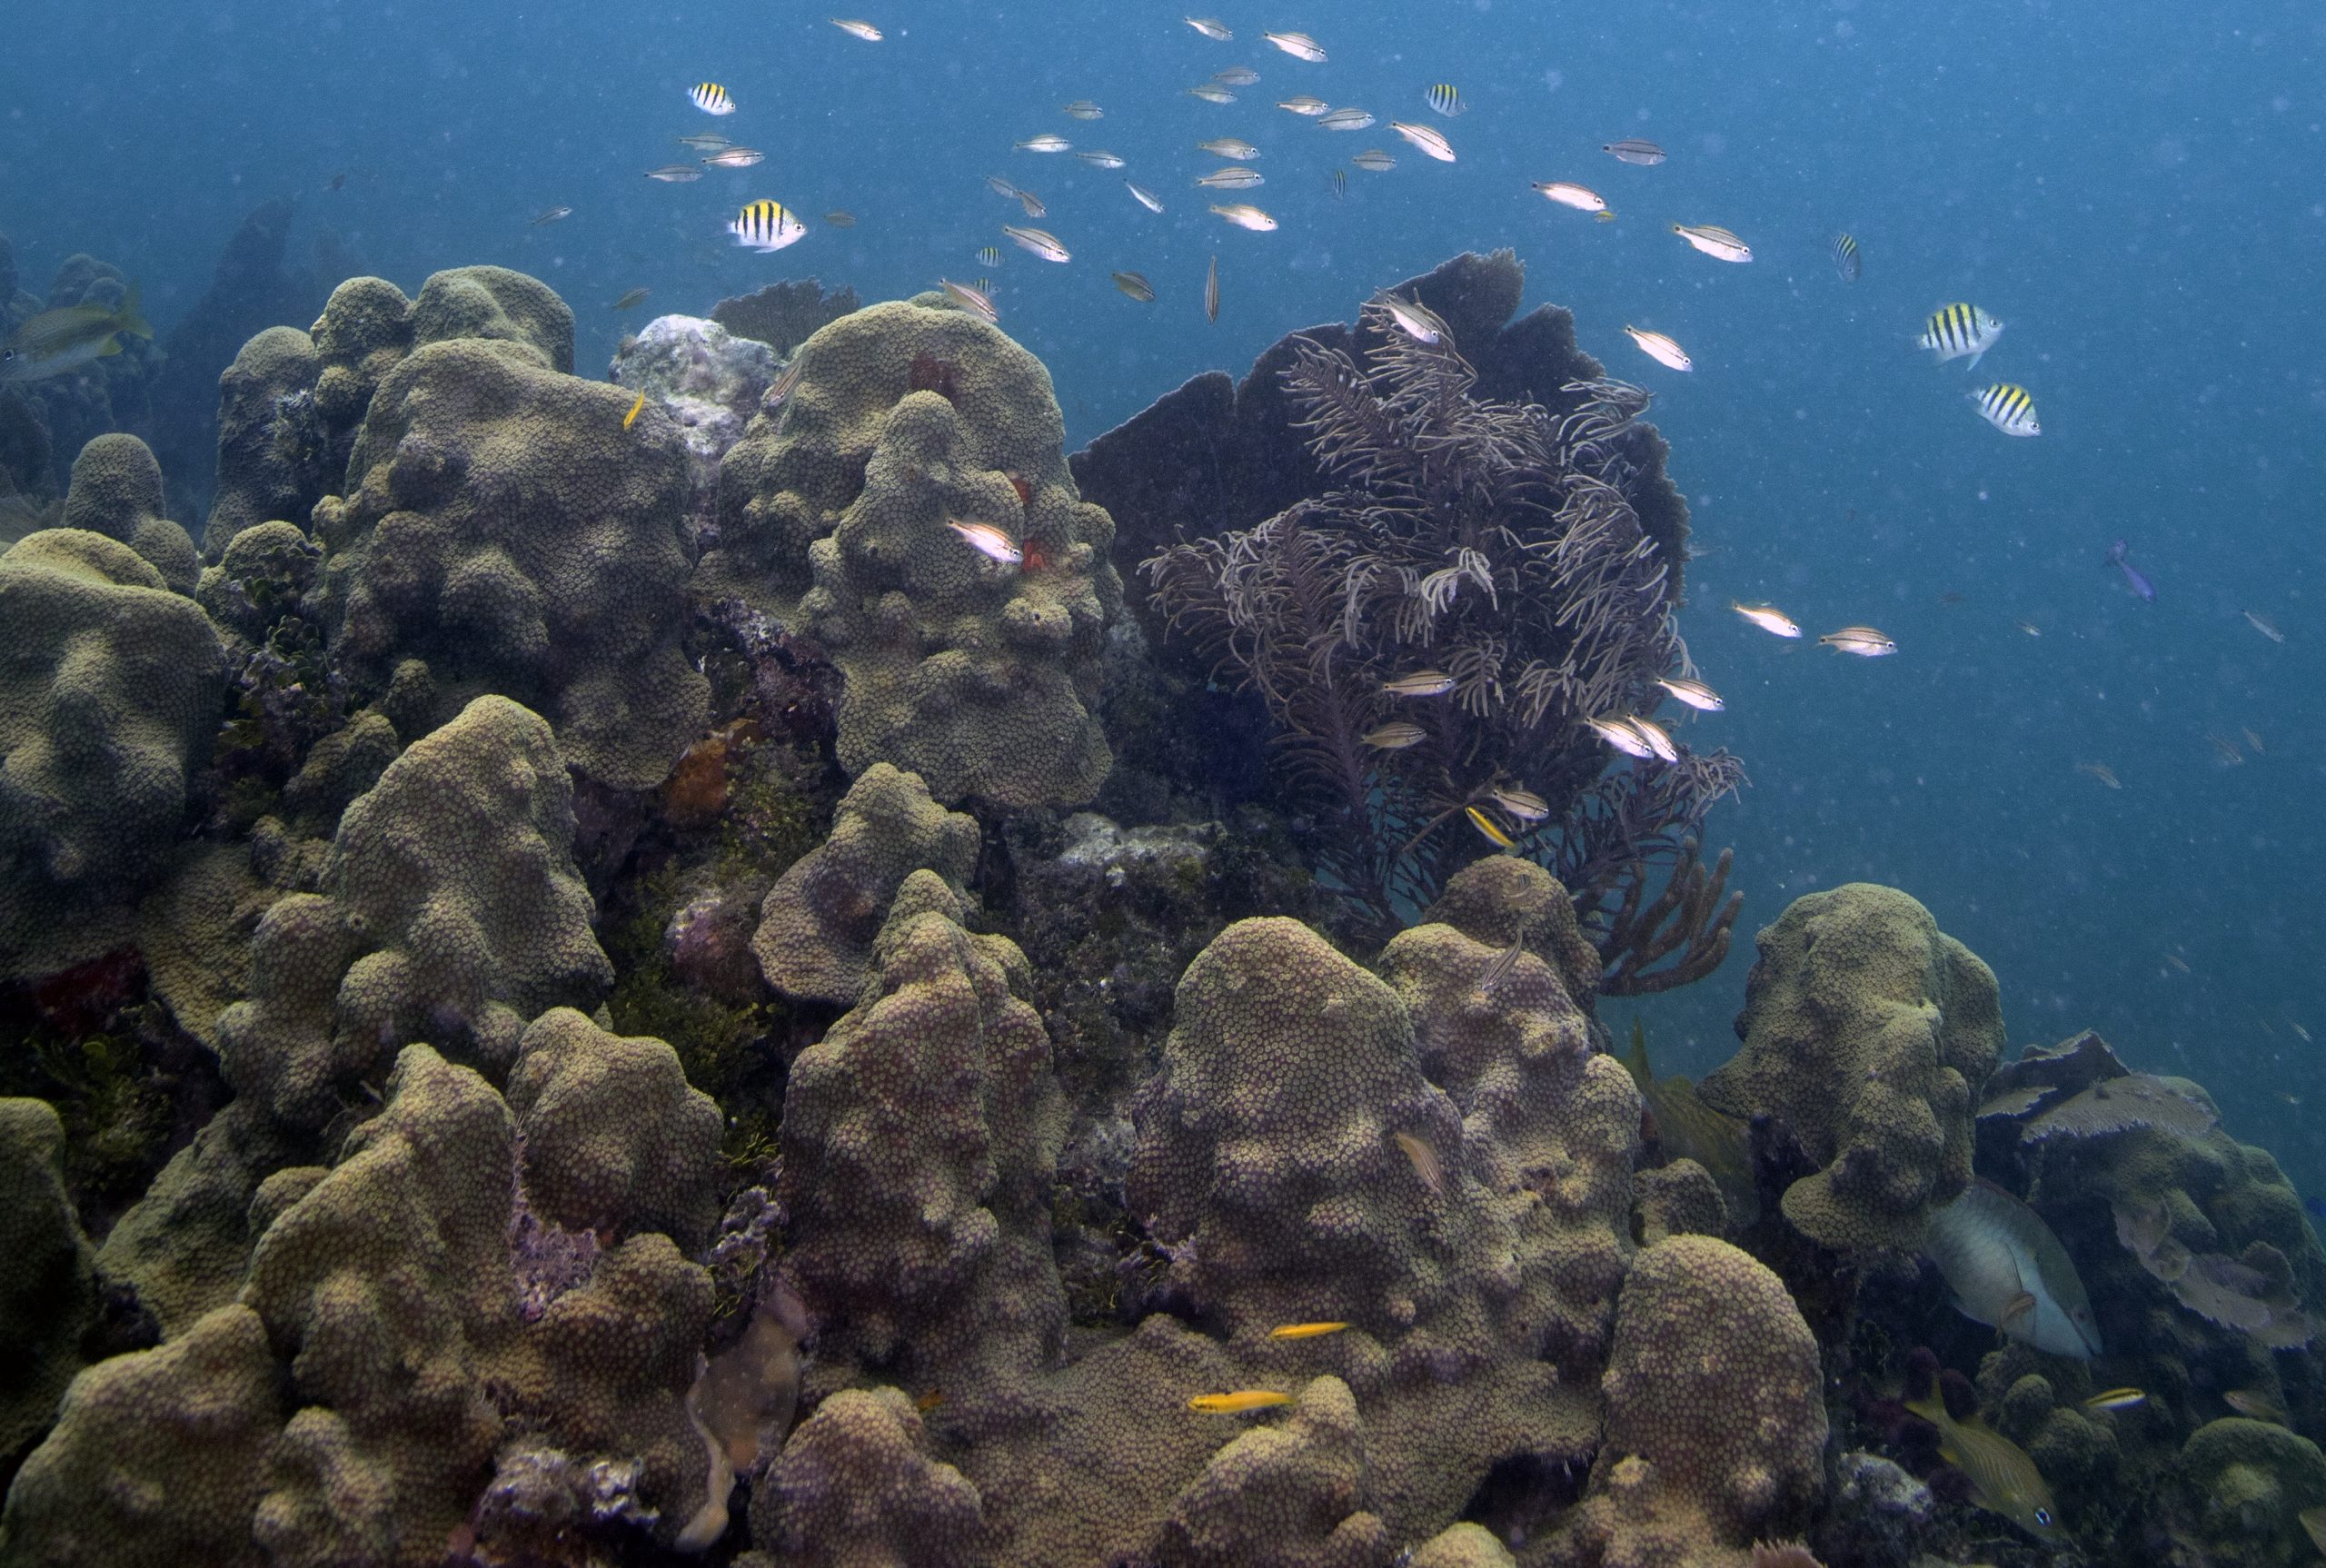
[[[1947,1277],[1963,1317],[2054,1356],[2100,1354],[2100,1326],[2068,1249],[2035,1210],[1993,1182],[1972,1182],[1931,1214],[1921,1252]]]

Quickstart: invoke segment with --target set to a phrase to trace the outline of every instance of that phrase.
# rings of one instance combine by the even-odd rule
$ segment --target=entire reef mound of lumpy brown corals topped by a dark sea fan
[[[142,349],[0,393],[0,1563],[2303,1561],[2326,1252],[2200,1086],[1863,884],[1610,1054],[1735,919],[1735,758],[1584,728],[1686,509],[1510,254],[1403,293],[1070,463],[942,295],[605,384],[358,277],[200,549]],[[2098,1354],[1924,1289],[1972,1182]]]

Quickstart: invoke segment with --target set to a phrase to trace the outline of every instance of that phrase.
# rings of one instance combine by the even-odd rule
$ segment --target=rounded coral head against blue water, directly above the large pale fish
[[[1796,898],[1756,938],[1744,1040],[1700,1084],[1768,1114],[1817,1170],[1784,1217],[1835,1252],[1912,1252],[1970,1182],[1970,1096],[2003,1052],[1993,972],[1905,893],[1851,882]]]

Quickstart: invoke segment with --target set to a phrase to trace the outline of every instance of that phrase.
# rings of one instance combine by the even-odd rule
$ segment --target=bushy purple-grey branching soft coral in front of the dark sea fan
[[[1675,742],[1610,770],[1586,724],[1651,714],[1656,677],[1691,670],[1677,563],[1626,498],[1619,437],[1647,393],[1570,382],[1565,414],[1482,400],[1451,333],[1421,342],[1370,305],[1361,335],[1363,365],[1303,337],[1284,370],[1328,489],[1149,558],[1156,605],[1258,691],[1323,821],[1321,870],[1377,935],[1507,840],[1577,891],[1603,989],[1710,970],[1735,905],[1693,833],[1742,765]],[[1444,689],[1414,691],[1417,672]],[[1647,898],[1654,865],[1670,879]]]

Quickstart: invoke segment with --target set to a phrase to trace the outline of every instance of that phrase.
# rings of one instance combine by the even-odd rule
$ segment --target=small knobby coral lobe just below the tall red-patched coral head
[[[751,952],[786,996],[854,1003],[889,900],[914,870],[956,893],[977,868],[977,819],[928,798],[921,775],[872,763],[833,810],[830,835],[768,889]]]

